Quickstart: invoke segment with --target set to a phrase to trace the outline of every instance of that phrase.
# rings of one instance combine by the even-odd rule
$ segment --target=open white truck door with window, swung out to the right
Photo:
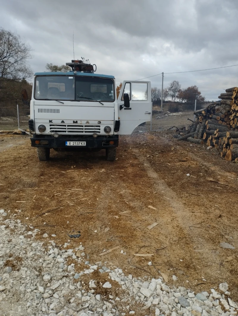
[[[124,94],[129,95],[130,107],[124,106]],[[151,117],[150,81],[124,81],[118,97],[120,129],[118,135],[131,135],[134,129]]]

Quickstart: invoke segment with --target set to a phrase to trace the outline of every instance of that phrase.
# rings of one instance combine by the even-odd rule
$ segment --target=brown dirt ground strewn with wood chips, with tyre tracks
[[[170,284],[195,292],[227,282],[238,299],[238,166],[217,151],[164,133],[139,133],[120,139],[115,162],[104,152],[53,150],[50,161],[40,162],[28,137],[0,140],[0,208],[40,228],[39,239],[56,234],[58,245],[70,240],[68,248],[82,242],[92,262],[112,262],[133,275],[157,277],[161,271]],[[153,222],[159,224],[149,230]],[[68,237],[73,230],[81,231],[79,239]],[[115,246],[120,248],[98,256]]]

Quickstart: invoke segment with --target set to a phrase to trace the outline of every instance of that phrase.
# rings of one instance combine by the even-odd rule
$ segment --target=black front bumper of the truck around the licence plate
[[[47,144],[36,144],[36,141],[40,142],[48,142]],[[86,142],[86,146],[66,146],[65,142]],[[110,142],[114,142],[110,144]],[[59,135],[59,137],[53,137],[51,135],[38,135],[33,134],[31,138],[31,146],[32,147],[48,147],[48,148],[108,148],[108,147],[118,147],[119,139],[118,135],[108,135],[108,136],[77,136],[77,135]]]

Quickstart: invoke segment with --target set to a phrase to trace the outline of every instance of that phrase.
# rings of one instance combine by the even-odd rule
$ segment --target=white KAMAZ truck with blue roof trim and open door
[[[95,74],[79,60],[68,65],[72,71],[34,74],[31,146],[41,161],[49,159],[50,149],[106,149],[106,159],[113,161],[119,135],[130,135],[150,121],[150,82],[124,81],[117,99],[114,76]],[[26,90],[22,90],[22,99],[28,100]]]

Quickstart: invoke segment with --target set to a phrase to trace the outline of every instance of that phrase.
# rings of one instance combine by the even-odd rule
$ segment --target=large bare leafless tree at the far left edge
[[[30,46],[19,35],[0,28],[0,78],[21,80],[30,78],[33,72],[27,64]]]

